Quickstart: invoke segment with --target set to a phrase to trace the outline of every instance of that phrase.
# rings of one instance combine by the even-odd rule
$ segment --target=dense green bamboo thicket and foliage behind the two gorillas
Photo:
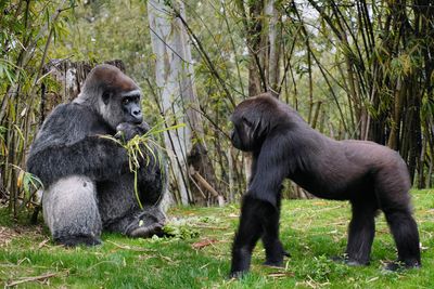
[[[196,102],[180,113],[190,109],[202,117],[199,131],[192,126],[192,143],[206,150],[210,170],[203,175],[215,188],[214,197],[238,199],[245,187],[248,158],[230,148],[228,117],[240,100],[267,90],[280,92],[280,98],[332,137],[372,140],[399,150],[413,184],[432,185],[431,1],[186,1],[180,6],[167,1],[165,5],[166,21],[178,19],[190,39],[182,44],[192,52],[184,65],[194,68]],[[12,211],[29,206],[38,186],[24,169],[43,119],[41,95],[61,90],[47,74],[48,63],[122,60],[146,95],[148,121],[159,121],[162,95],[154,73],[158,60],[151,45],[156,31],[148,21],[151,6],[129,0],[1,2],[0,199]],[[177,187],[173,188],[179,201]]]

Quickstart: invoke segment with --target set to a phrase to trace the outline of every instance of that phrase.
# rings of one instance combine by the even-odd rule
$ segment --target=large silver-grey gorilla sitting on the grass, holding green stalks
[[[30,147],[27,170],[44,186],[43,218],[54,241],[65,246],[98,245],[102,229],[131,237],[159,234],[165,171],[150,155],[135,175],[127,150],[101,135],[126,142],[149,130],[142,121],[141,92],[118,68],[99,65],[81,93],[48,116]],[[145,150],[143,150],[145,153]]]

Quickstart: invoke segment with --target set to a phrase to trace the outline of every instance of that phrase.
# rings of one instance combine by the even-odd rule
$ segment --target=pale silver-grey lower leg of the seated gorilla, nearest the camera
[[[101,244],[95,194],[92,181],[78,175],[61,179],[43,193],[43,219],[54,241],[65,246]]]

